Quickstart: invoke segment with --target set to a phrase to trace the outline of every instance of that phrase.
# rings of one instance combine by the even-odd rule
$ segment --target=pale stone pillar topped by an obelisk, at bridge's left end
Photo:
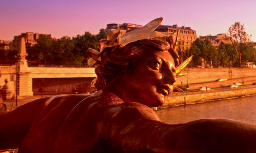
[[[26,46],[25,46],[25,39],[24,37],[21,38],[21,42],[19,45],[19,53],[18,53],[18,95],[25,96],[25,95],[33,95],[32,91],[32,78],[30,76],[31,72],[28,72],[28,63],[26,60]]]

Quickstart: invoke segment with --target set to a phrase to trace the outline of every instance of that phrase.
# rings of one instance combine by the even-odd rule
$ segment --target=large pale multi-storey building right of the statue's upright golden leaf
[[[173,26],[159,25],[156,28],[156,31],[177,32],[178,28],[180,31],[178,35],[177,49],[179,51],[185,51],[186,49],[189,49],[190,44],[197,39],[197,33],[195,30],[192,30],[191,27],[178,27],[177,24],[174,24]]]

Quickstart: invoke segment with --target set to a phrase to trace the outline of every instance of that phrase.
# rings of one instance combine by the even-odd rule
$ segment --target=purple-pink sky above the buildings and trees
[[[256,0],[1,0],[0,39],[21,32],[52,37],[97,34],[109,23],[189,26],[199,35],[225,33],[236,21],[256,42]]]

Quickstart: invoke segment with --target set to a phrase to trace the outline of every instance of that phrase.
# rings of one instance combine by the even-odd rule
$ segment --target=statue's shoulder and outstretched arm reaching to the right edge
[[[158,153],[256,150],[256,125],[227,119],[202,119],[171,125],[159,121],[154,115],[149,108],[143,107],[119,111],[111,130],[107,130],[112,146],[121,146],[127,152]]]

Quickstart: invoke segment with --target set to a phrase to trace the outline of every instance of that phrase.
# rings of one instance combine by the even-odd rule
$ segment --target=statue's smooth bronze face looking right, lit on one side
[[[158,107],[173,91],[175,65],[168,51],[144,51],[125,76],[129,99]]]

